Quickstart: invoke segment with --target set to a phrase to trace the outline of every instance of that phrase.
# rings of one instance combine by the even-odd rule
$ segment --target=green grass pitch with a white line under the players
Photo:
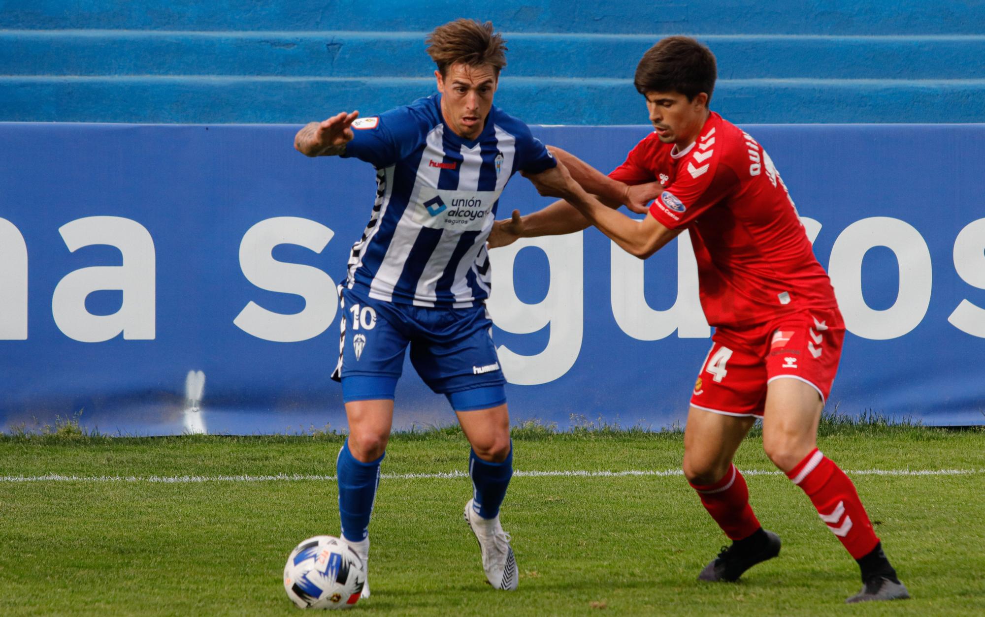
[[[294,545],[339,530],[331,480],[341,437],[0,438],[0,614],[296,615],[281,584]],[[370,526],[372,597],[358,614],[985,614],[985,431],[827,422],[820,447],[848,470],[913,599],[843,604],[854,562],[784,476],[748,473],[780,556],[738,584],[694,578],[726,543],[681,475],[520,475],[502,521],[521,573],[486,585],[462,521],[458,430],[395,435]],[[680,467],[680,433],[514,431],[518,470]],[[773,471],[754,433],[746,472]],[[963,470],[936,475],[860,473]],[[58,474],[73,480],[13,478]],[[117,476],[123,479],[106,479]],[[201,476],[205,481],[147,478]],[[99,478],[102,479],[99,479]],[[126,479],[126,478],[131,479]]]

